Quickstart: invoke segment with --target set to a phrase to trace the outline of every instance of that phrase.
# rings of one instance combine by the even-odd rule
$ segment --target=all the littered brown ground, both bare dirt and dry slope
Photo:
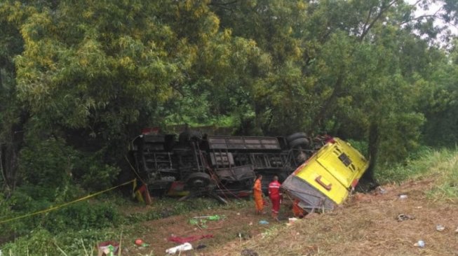
[[[403,185],[386,185],[370,194],[353,194],[335,211],[310,215],[288,225],[290,203],[282,205],[281,222],[267,215],[255,215],[253,208],[213,210],[198,215],[225,216],[207,221],[204,226],[191,225],[196,213],[144,222],[139,237],[147,248],[124,246],[123,254],[166,255],[166,249],[179,243],[171,236],[202,237],[191,241],[200,250],[181,255],[457,255],[458,204],[432,201],[426,191],[433,180]],[[401,199],[403,194],[407,198]],[[269,211],[269,208],[266,209]],[[268,225],[260,224],[267,220]],[[438,231],[438,225],[445,227]],[[417,241],[424,248],[415,246]],[[178,255],[178,254],[177,254]]]

